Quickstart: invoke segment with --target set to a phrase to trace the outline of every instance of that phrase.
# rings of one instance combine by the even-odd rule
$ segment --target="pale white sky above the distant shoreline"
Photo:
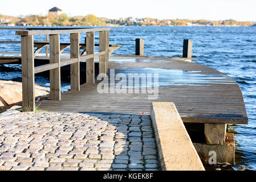
[[[56,6],[68,16],[94,14],[111,19],[208,19],[256,22],[256,0],[0,0],[3,15],[46,15]]]

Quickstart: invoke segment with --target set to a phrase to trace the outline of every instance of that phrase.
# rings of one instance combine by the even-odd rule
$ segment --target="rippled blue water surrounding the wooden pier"
[[[256,170],[255,35],[256,27],[111,27],[109,43],[122,45],[114,53],[134,54],[135,39],[141,38],[144,39],[145,55],[181,56],[183,39],[191,39],[194,62],[226,73],[242,90],[249,124],[231,125],[236,142],[234,169]],[[84,36],[81,35],[81,42]],[[97,43],[99,35],[95,36]],[[35,36],[35,40],[44,39],[44,36]],[[0,40],[20,40],[20,37],[14,30],[1,30]],[[61,35],[60,40],[68,42],[69,35]],[[18,52],[20,49],[19,44],[0,44],[0,52]]]

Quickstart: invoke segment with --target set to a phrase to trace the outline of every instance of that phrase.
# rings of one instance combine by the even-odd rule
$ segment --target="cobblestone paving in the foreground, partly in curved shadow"
[[[0,117],[0,170],[158,170],[148,115],[25,112]]]

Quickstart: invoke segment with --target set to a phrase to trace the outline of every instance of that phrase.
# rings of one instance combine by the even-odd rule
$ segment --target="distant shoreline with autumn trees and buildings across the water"
[[[58,15],[27,15],[8,16],[0,14],[0,26],[209,26],[209,27],[248,27],[255,26],[255,22],[239,22],[233,19],[227,20],[190,20],[190,19],[154,19],[154,18],[99,18],[95,15],[68,16],[61,13]]]

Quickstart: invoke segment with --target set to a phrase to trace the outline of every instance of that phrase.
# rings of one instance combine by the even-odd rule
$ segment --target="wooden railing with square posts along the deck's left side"
[[[107,73],[109,59],[110,28],[84,28],[72,30],[23,30],[22,55],[22,101],[23,111],[35,110],[35,73],[50,70],[50,99],[60,100],[60,67],[70,65],[71,90],[80,90],[80,64],[86,60],[86,83],[94,84],[94,58],[99,56],[99,73]],[[99,52],[95,52],[95,32],[99,31]],[[86,33],[86,55],[80,55],[80,34]],[[60,61],[60,34],[70,34],[70,59]],[[34,35],[49,35],[50,63],[34,67]]]

